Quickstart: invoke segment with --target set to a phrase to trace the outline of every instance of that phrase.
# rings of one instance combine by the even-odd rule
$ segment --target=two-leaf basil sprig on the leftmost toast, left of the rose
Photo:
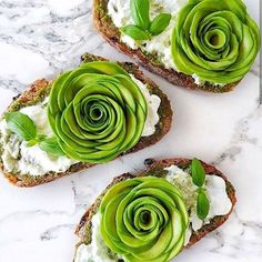
[[[4,114],[8,128],[21,140],[27,141],[28,147],[39,144],[40,149],[54,157],[64,155],[57,138],[47,138],[47,135],[37,133],[37,125],[24,113],[10,112]]]

